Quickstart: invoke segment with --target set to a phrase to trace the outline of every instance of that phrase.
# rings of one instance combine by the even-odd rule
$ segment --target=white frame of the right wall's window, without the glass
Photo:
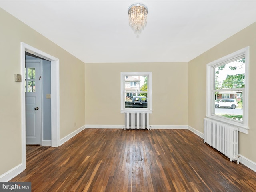
[[[214,68],[216,66],[223,65],[228,63],[229,60],[237,58],[241,55],[245,55],[245,87],[241,88],[243,90],[243,121],[238,122],[236,120],[232,120],[229,118],[225,118],[222,116],[218,116],[213,114],[213,107],[215,99],[213,95],[213,91],[215,89],[215,71]],[[224,56],[220,59],[217,59],[213,62],[210,62],[206,66],[206,118],[211,118],[220,122],[224,122],[227,124],[231,124],[238,127],[238,131],[248,134],[248,90],[249,90],[249,83],[248,83],[248,66],[249,66],[249,46],[238,50],[234,53],[231,53],[227,56]],[[225,90],[222,90],[225,91]]]

